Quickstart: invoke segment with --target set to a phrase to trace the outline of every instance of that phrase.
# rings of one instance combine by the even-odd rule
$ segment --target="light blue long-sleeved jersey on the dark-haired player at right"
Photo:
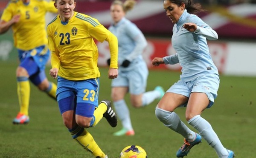
[[[197,30],[187,31],[183,28],[185,23],[195,23],[198,26]],[[209,53],[207,39],[217,40],[218,35],[198,16],[185,10],[173,27],[172,46],[177,54],[164,57],[165,64],[180,63],[180,79],[185,82],[206,74],[218,75],[218,69]]]

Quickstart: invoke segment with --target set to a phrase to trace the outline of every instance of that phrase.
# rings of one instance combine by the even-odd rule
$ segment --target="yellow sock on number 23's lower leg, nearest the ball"
[[[73,138],[87,151],[91,152],[94,157],[99,156],[105,158],[105,153],[99,148],[98,144],[94,141],[93,136],[84,128],[77,126],[70,130]],[[79,134],[81,133],[81,134]]]

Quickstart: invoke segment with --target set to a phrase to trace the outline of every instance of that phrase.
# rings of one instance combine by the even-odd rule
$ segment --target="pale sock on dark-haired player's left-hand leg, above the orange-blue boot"
[[[175,112],[169,112],[156,107],[155,113],[157,118],[163,122],[166,127],[181,134],[186,140],[192,141],[195,138],[195,132],[190,130]]]

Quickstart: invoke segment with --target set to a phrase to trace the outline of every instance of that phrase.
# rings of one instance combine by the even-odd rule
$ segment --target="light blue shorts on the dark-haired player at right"
[[[216,74],[209,74],[200,76],[192,81],[184,82],[179,80],[166,92],[172,92],[181,94],[189,98],[192,92],[205,93],[210,100],[207,108],[214,104],[214,99],[217,97],[217,91],[220,84],[219,76]],[[186,107],[186,104],[181,105],[181,107]]]

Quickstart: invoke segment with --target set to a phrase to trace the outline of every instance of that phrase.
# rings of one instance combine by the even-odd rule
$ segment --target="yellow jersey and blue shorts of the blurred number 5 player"
[[[20,15],[20,21],[12,25],[14,45],[18,49],[19,59],[23,62],[25,58],[32,57],[41,71],[49,58],[45,15],[48,11],[58,12],[53,3],[45,0],[30,0],[29,3],[11,0],[1,17],[1,20],[8,22],[14,15]],[[25,67],[24,64],[23,66]],[[27,71],[32,75],[30,70]]]

